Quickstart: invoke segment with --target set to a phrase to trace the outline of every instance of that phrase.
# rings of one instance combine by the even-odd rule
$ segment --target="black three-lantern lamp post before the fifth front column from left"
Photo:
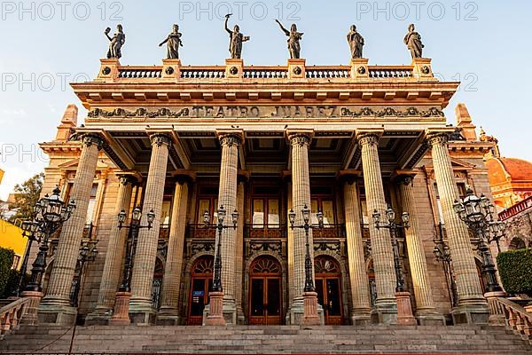
[[[403,221],[402,224],[395,223],[395,211],[391,209],[389,206],[386,210],[386,216],[387,216],[387,222],[382,222],[380,220],[380,213],[377,209],[373,211],[373,223],[375,224],[375,228],[386,228],[390,230],[390,234],[392,237],[392,247],[394,248],[394,266],[395,266],[395,277],[396,277],[396,285],[395,285],[395,291],[396,292],[406,292],[406,286],[404,283],[404,275],[403,275],[403,266],[401,263],[401,256],[399,255],[399,244],[397,243],[397,229],[408,229],[410,227],[410,215],[406,212],[403,212],[401,215],[401,219]]]

